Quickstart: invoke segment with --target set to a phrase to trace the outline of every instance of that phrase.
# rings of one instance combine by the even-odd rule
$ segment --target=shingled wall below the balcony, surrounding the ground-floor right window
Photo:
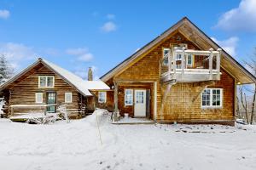
[[[172,86],[166,101],[160,107],[160,122],[214,122],[234,119],[235,81],[222,71],[221,80],[207,88],[223,88],[223,105],[218,109],[201,108],[201,92],[204,86],[195,83],[178,83]]]

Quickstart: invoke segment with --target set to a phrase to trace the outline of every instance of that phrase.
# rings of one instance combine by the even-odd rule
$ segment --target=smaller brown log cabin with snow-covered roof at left
[[[84,116],[89,107],[95,106],[88,102],[95,97],[91,90],[108,89],[100,80],[85,81],[44,59],[38,59],[0,87],[8,116],[38,111],[55,113],[58,105],[66,105],[69,116],[74,118]]]

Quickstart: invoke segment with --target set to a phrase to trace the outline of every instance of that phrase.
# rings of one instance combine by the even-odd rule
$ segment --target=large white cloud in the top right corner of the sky
[[[216,27],[225,31],[256,31],[256,1],[241,0],[238,8],[220,17]]]

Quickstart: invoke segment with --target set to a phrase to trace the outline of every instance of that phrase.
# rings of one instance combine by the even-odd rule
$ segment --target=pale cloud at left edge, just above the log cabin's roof
[[[39,56],[33,51],[33,48],[15,42],[0,43],[0,54],[6,56],[16,71],[20,69],[20,65],[24,61],[37,59]]]

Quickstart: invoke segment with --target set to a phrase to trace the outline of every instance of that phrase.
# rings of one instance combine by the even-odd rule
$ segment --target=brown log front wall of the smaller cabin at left
[[[54,88],[38,88],[38,76],[54,76],[55,87]],[[43,93],[43,102],[46,104],[46,92],[53,91],[56,93],[56,103],[63,104],[65,102],[65,93],[71,92],[73,102],[67,104],[67,109],[79,109],[79,93],[70,86],[67,82],[62,80],[61,77],[55,75],[47,67],[42,66],[31,75],[15,83],[10,88],[9,105],[36,105],[35,93]],[[15,109],[16,113],[33,112],[38,109]]]

